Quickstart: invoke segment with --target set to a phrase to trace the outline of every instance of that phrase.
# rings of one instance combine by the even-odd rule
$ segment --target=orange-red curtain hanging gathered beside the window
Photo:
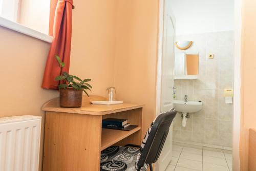
[[[53,24],[53,41],[46,62],[44,79],[42,80],[42,88],[44,89],[57,90],[59,81],[55,81],[54,78],[62,73],[55,55],[58,55],[66,63],[62,72],[69,72],[72,7],[73,0],[59,0],[57,3]]]

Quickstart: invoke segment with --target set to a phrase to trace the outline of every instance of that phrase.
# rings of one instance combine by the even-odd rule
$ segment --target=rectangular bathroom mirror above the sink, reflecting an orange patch
[[[175,75],[198,75],[199,53],[175,53]]]

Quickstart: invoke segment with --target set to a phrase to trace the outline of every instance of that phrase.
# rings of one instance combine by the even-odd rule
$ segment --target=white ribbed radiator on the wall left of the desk
[[[0,118],[0,170],[37,171],[41,117]]]

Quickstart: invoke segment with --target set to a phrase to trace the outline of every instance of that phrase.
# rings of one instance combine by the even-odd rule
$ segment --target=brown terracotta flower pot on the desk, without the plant
[[[82,90],[60,89],[59,105],[62,108],[80,108],[82,105]]]

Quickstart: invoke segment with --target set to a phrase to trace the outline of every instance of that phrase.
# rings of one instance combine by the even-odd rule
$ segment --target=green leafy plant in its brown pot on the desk
[[[59,56],[55,56],[59,66],[65,67],[65,63],[61,61]],[[67,72],[63,72],[55,78],[56,81],[60,81],[59,88],[59,105],[62,108],[79,108],[82,105],[82,92],[88,93],[87,90],[92,89],[92,86],[88,83],[91,79],[80,79],[77,76],[69,75]]]

